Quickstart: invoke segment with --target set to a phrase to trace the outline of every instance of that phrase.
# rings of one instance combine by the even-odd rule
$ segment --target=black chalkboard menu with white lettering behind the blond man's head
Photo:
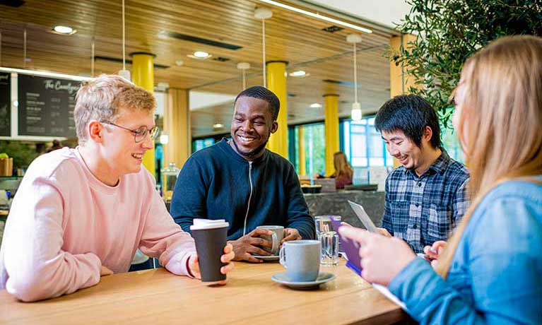
[[[18,135],[76,136],[73,108],[79,81],[18,75]]]

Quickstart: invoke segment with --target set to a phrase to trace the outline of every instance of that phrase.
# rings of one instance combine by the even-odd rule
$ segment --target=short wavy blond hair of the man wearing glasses
[[[86,126],[90,120],[115,122],[125,110],[153,112],[156,102],[154,95],[134,85],[121,76],[102,74],[98,78],[81,83],[77,91],[73,119],[79,143],[88,138]]]

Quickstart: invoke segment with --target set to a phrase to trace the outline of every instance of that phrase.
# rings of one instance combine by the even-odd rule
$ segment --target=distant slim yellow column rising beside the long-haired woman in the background
[[[326,130],[326,176],[335,172],[333,154],[338,148],[338,95],[324,95],[325,130]]]

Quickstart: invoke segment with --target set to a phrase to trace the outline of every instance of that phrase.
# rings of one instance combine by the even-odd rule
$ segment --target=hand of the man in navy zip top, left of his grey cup
[[[232,244],[233,252],[235,253],[234,261],[249,261],[254,263],[261,263],[263,260],[257,259],[254,255],[269,256],[271,253],[261,249],[261,247],[267,247],[271,249],[273,243],[258,236],[260,235],[273,235],[271,230],[267,229],[254,229],[247,235],[240,237],[238,240],[230,240],[228,243]]]

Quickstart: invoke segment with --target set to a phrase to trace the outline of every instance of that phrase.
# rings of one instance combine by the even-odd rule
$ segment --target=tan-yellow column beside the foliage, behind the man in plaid
[[[414,42],[416,40],[416,35],[405,34],[400,36],[393,36],[389,40],[389,45],[391,48],[391,57],[394,54],[400,54],[401,45],[408,49],[408,42]],[[406,73],[406,66],[403,64],[396,65],[395,61],[391,60],[389,62],[389,95],[391,98],[394,98],[397,95],[408,94],[408,88],[414,85],[416,80],[409,76]],[[394,158],[394,168],[401,166],[399,160]]]

